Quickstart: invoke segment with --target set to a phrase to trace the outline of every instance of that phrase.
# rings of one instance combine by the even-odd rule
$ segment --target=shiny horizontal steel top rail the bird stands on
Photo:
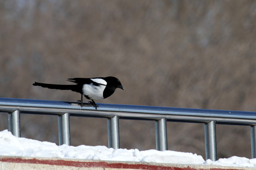
[[[121,105],[121,104],[102,104],[97,110],[90,104],[85,104],[82,108],[77,102],[59,102],[59,101],[43,101],[30,99],[11,99],[0,98],[0,111],[13,112],[20,110],[21,113],[42,113],[62,115],[64,113],[76,115],[92,115],[99,117],[111,118],[118,116],[122,118],[132,119],[154,119],[159,120],[166,118],[167,120],[178,121],[196,121],[208,123],[216,121],[216,123],[235,123],[256,125],[256,112],[248,111],[230,111],[230,110],[206,110],[206,109],[185,109],[170,107],[153,107],[153,106],[137,106],[137,105]]]

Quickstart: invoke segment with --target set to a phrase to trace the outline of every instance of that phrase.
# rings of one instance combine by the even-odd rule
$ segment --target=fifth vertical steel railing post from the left
[[[211,121],[204,124],[205,153],[206,159],[217,160],[216,150],[216,122]]]

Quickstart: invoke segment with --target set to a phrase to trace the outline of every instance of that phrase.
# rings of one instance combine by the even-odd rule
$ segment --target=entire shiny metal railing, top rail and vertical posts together
[[[100,104],[97,110],[77,102],[42,101],[0,98],[0,112],[9,114],[9,131],[20,136],[19,114],[45,114],[58,116],[59,144],[70,145],[70,116],[93,116],[107,119],[108,147],[119,148],[119,119],[154,120],[156,148],[167,150],[167,121],[204,124],[206,159],[215,161],[216,124],[247,125],[251,129],[252,158],[256,158],[256,112],[230,110],[185,109],[120,104]]]

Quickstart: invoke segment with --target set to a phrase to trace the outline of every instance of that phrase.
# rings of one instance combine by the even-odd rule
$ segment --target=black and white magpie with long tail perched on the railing
[[[55,85],[55,84],[46,84],[46,83],[37,83],[33,85],[41,86],[49,89],[58,89],[58,90],[71,90],[81,94],[80,102],[81,107],[83,107],[83,95],[91,100],[89,101],[95,109],[97,110],[98,105],[94,100],[106,99],[111,96],[116,88],[121,88],[124,90],[123,85],[120,80],[113,77],[94,77],[94,78],[68,78],[67,81],[75,83],[76,85]]]

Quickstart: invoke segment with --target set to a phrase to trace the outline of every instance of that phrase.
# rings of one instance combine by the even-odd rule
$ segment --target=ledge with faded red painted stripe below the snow
[[[186,165],[168,163],[146,163],[125,161],[88,161],[56,158],[31,158],[0,156],[0,162],[57,165],[78,168],[113,168],[113,169],[135,169],[135,170],[252,170],[255,168],[222,167],[206,165]],[[212,167],[212,168],[211,168]],[[256,170],[256,169],[255,169]]]

